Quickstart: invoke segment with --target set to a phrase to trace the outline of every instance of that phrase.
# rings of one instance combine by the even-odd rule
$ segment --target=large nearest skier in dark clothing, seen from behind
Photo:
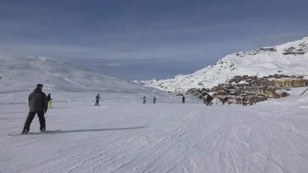
[[[45,124],[45,117],[44,113],[46,114],[48,109],[48,102],[46,94],[42,92],[43,84],[37,84],[34,91],[29,95],[29,113],[27,119],[25,121],[23,130],[21,132],[22,135],[27,134],[30,130],[31,122],[37,114],[38,120],[40,120],[40,132],[45,132],[46,124]]]

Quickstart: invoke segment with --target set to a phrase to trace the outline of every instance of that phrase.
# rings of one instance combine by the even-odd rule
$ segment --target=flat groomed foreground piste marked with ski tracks
[[[298,98],[304,96],[290,99]],[[15,127],[21,128],[26,115],[14,109],[26,105],[0,105],[5,110],[0,118],[14,115],[0,121],[0,172],[305,173],[308,115],[286,107],[287,99],[211,107],[61,103],[69,109],[47,115],[58,116],[47,118],[47,128],[61,131],[19,137],[6,134],[19,133]],[[38,126],[35,118],[30,132]]]

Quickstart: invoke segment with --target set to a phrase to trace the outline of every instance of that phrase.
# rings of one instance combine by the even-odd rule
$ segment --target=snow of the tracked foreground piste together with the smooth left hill
[[[306,94],[210,107],[47,57],[1,55],[0,67],[0,172],[308,172]],[[7,135],[38,82],[53,132]]]

